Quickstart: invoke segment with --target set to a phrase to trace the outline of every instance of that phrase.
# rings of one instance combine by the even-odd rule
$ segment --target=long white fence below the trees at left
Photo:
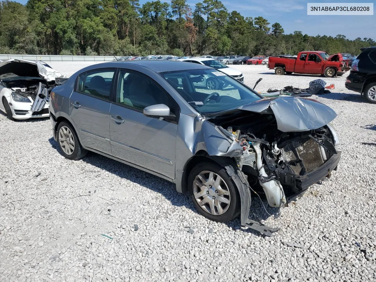
[[[91,61],[91,62],[100,62],[100,61],[112,61],[113,56],[61,56],[61,55],[9,55],[2,54],[0,55],[0,60],[9,60],[9,59],[21,59],[21,60],[37,60],[37,61],[46,61],[46,62],[73,62],[73,61]]]

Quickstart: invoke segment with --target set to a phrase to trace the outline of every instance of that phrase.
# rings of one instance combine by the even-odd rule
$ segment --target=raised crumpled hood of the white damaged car
[[[0,62],[0,76],[6,73],[14,73],[17,76],[42,77],[47,81],[53,81],[55,77],[62,77],[57,70],[46,67],[39,61],[19,59]]]

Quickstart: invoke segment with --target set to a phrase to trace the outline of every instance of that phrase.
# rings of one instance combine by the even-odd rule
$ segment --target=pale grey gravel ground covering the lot
[[[88,64],[51,63],[68,76]],[[235,68],[250,86],[262,77],[258,91],[316,79]],[[338,114],[338,171],[275,220],[253,199],[252,217],[281,228],[271,238],[207,220],[151,174],[95,153],[65,159],[48,119],[0,115],[0,281],[375,281],[376,147],[361,142],[376,142],[376,106],[345,79],[315,97]]]

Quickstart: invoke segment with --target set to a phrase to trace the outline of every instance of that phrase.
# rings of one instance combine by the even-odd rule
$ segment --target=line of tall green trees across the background
[[[279,23],[229,12],[219,0],[29,0],[0,3],[0,53],[43,55],[359,54],[371,38],[285,34]]]

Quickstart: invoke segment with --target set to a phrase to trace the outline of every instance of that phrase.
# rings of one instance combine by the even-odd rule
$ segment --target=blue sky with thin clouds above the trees
[[[152,0],[149,0],[152,1]],[[163,0],[162,0],[163,1]],[[17,0],[26,4],[27,0]],[[140,0],[140,4],[147,0]],[[170,2],[170,1],[164,1]],[[187,3],[194,9],[194,5],[200,1],[187,0]],[[229,12],[238,11],[244,17],[266,18],[270,24],[278,22],[282,25],[285,33],[293,33],[300,30],[308,35],[345,35],[348,39],[372,38],[376,39],[376,15],[367,16],[317,16],[307,15],[307,3],[333,3],[334,0],[223,0]],[[340,0],[341,3],[374,3],[370,0]],[[374,9],[376,5],[374,3]]]

